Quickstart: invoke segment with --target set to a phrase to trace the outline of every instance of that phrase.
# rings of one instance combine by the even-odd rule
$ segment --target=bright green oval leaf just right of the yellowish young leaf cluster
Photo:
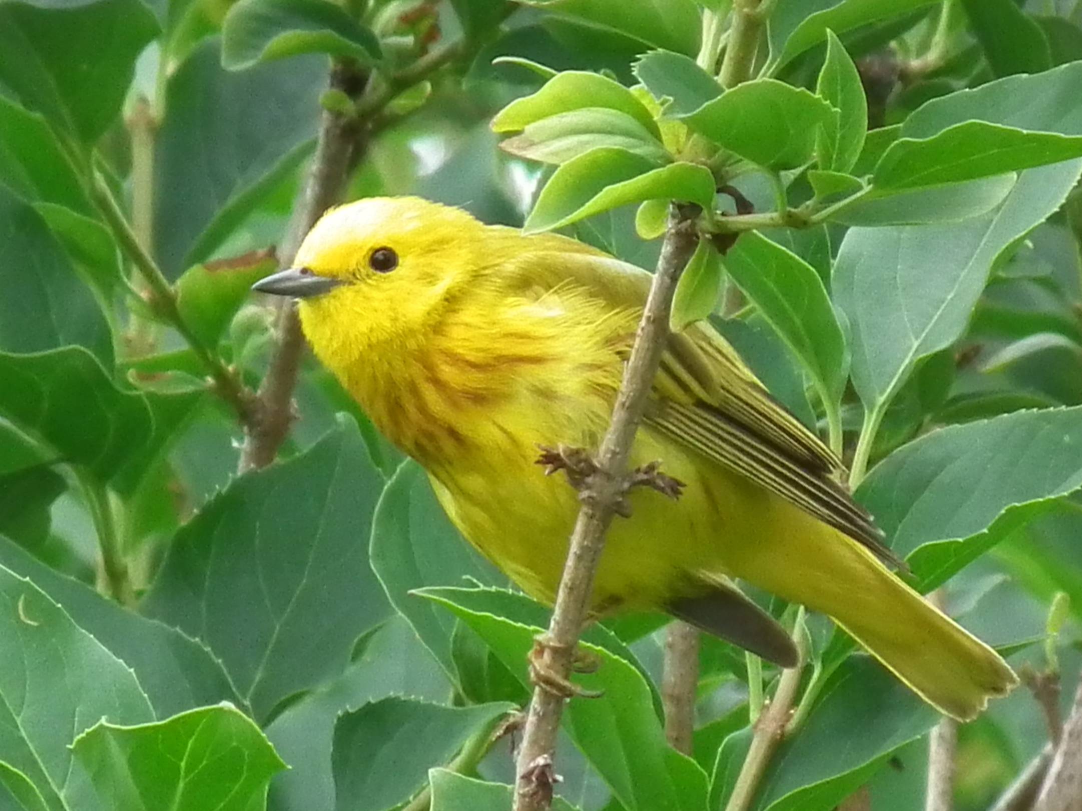
[[[681,118],[700,135],[765,169],[795,169],[815,150],[834,108],[803,88],[754,79]]]

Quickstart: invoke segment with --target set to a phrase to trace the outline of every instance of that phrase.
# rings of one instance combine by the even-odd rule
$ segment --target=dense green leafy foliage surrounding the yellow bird
[[[0,1],[0,806],[511,807],[493,735],[547,610],[311,358],[281,461],[234,473],[223,374],[267,370],[248,288],[290,250],[331,120],[352,197],[566,227],[647,267],[668,202],[701,207],[673,328],[716,323],[855,469],[914,586],[1073,692],[1078,3],[776,0],[724,91],[713,0],[151,5]],[[664,622],[584,633],[601,666],[573,678],[605,695],[567,706],[553,808],[733,792],[755,670],[704,640],[677,754]],[[921,807],[936,714],[824,619],[808,633],[750,808],[861,787]],[[1025,689],[994,702],[962,730],[955,808],[990,807],[1045,740]]]

